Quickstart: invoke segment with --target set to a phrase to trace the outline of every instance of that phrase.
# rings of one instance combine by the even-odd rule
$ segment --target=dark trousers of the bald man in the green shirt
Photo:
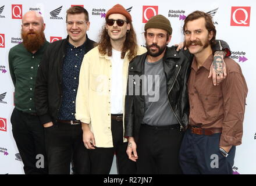
[[[24,173],[47,174],[44,128],[38,116],[23,113],[15,108],[10,122],[12,123],[13,138],[24,164]]]

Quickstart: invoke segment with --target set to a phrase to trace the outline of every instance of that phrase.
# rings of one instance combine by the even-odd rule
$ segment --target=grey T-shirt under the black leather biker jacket
[[[163,60],[149,63],[145,60],[144,74],[147,81],[144,81],[143,88],[145,98],[145,115],[143,123],[151,126],[167,126],[178,124],[175,115],[170,108],[167,89],[166,76],[163,71]]]

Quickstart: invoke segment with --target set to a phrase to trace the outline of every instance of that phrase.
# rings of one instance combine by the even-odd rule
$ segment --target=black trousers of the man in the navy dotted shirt
[[[90,174],[88,150],[83,144],[81,124],[55,123],[45,130],[49,174]]]

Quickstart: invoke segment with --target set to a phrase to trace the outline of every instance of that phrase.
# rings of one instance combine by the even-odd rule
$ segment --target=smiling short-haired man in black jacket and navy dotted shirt
[[[83,56],[94,48],[86,34],[88,12],[80,6],[67,10],[68,36],[49,45],[38,68],[35,108],[45,130],[49,174],[90,173],[81,123],[74,117],[79,71]]]

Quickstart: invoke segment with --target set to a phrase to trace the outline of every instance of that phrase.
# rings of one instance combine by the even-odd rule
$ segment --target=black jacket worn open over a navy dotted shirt
[[[86,36],[87,37],[87,36]],[[66,55],[68,37],[48,45],[37,71],[35,109],[41,124],[56,121],[62,101],[62,64]],[[86,38],[87,53],[95,42]]]

